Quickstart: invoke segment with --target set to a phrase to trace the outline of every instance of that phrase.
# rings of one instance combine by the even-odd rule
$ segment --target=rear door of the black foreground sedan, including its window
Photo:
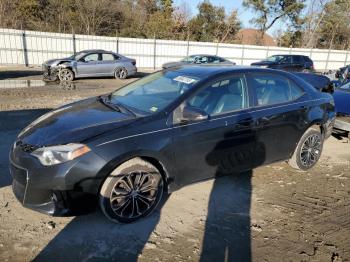
[[[288,159],[293,153],[307,119],[304,91],[279,74],[249,73],[253,90],[257,143],[264,148],[264,163]]]

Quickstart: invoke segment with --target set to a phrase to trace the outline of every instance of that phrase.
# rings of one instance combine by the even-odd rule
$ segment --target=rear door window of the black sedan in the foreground
[[[259,106],[285,103],[304,94],[294,82],[282,76],[253,74],[250,78]]]

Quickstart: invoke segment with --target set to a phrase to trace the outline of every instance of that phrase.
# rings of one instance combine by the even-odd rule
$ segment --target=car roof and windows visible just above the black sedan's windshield
[[[232,66],[236,63],[231,62],[225,58],[222,58],[220,56],[216,55],[190,55],[178,62],[169,62],[162,65],[163,69],[180,66],[180,65],[207,65],[207,64],[213,64],[213,65],[226,65],[226,66]]]

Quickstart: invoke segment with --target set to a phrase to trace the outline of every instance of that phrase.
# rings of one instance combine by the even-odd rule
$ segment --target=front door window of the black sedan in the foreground
[[[247,87],[243,75],[222,79],[204,88],[187,103],[209,115],[221,114],[247,107]]]

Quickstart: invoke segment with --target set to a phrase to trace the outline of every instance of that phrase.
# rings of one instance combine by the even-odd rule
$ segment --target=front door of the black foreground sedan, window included
[[[173,120],[176,183],[181,186],[252,167],[254,120],[243,74],[213,81],[184,103],[209,118],[186,124]]]

